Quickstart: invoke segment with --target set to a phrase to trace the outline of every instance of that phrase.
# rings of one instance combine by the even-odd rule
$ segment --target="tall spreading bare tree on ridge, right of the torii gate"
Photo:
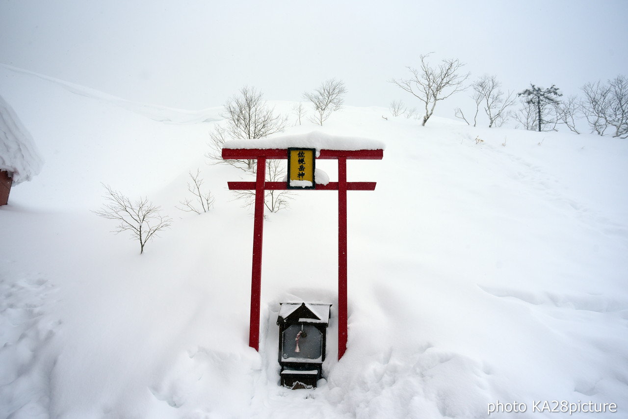
[[[457,59],[443,60],[438,67],[430,67],[425,60],[430,54],[420,56],[421,68],[407,67],[412,74],[409,79],[390,80],[425,104],[422,126],[425,126],[434,113],[438,101],[465,90],[463,83],[469,76],[469,73],[458,73],[464,64]]]

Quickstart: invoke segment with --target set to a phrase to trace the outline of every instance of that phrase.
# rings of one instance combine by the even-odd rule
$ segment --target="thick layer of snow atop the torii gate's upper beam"
[[[229,149],[274,149],[315,148],[320,150],[384,150],[386,144],[370,138],[345,137],[313,131],[307,134],[285,135],[261,139],[232,139],[223,148]]]

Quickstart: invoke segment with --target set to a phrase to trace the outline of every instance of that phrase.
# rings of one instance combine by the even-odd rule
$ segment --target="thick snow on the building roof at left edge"
[[[0,170],[8,171],[17,185],[35,177],[42,164],[33,137],[0,96]]]

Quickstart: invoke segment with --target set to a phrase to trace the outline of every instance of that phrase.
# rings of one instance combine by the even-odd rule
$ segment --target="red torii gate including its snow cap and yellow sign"
[[[252,148],[256,146],[256,148]],[[298,149],[298,150],[295,150]],[[311,150],[311,167],[303,160],[293,163],[287,182],[266,182],[266,160],[288,159],[291,152]],[[256,182],[227,182],[230,190],[255,190],[253,226],[253,261],[251,269],[251,320],[249,346],[259,351],[259,306],[261,302],[262,243],[264,228],[264,190],[337,190],[338,191],[338,359],[347,349],[347,190],[375,190],[376,182],[347,182],[347,160],[381,160],[384,144],[362,138],[332,137],[322,133],[286,136],[274,139],[228,141],[222,148],[224,160],[257,160]],[[338,160],[338,182],[317,184],[315,159]],[[296,167],[298,164],[300,167]],[[261,168],[261,170],[260,170]],[[301,171],[299,171],[301,170]],[[295,173],[298,182],[291,180]],[[300,180],[310,178],[311,182]],[[305,183],[303,183],[305,182]]]

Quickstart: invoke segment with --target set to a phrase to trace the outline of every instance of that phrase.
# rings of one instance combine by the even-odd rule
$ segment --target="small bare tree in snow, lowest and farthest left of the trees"
[[[146,197],[131,202],[122,193],[112,190],[109,185],[103,186],[107,189],[107,195],[104,196],[107,203],[101,210],[92,212],[99,217],[119,222],[112,232],[114,234],[130,232],[131,239],[139,242],[139,254],[144,253],[146,242],[172,224],[172,219],[161,215],[160,207],[149,202]]]

